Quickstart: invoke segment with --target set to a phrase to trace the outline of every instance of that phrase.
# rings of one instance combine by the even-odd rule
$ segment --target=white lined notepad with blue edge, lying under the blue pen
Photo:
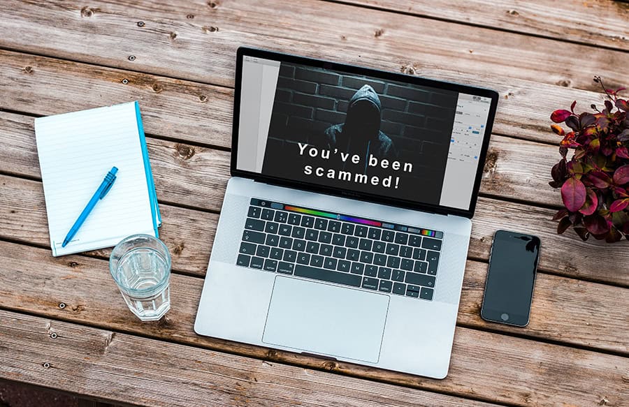
[[[136,233],[159,237],[161,216],[138,102],[35,119],[52,256],[115,246]],[[103,178],[117,179],[62,248]]]

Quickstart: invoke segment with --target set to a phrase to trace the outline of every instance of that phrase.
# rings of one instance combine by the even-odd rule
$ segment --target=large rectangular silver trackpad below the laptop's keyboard
[[[389,296],[277,276],[262,341],[377,363]]]

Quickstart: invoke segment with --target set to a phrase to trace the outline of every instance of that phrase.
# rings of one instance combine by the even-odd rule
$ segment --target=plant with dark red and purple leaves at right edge
[[[563,140],[549,185],[561,188],[565,206],[553,218],[558,233],[572,225],[583,240],[592,235],[611,243],[629,239],[629,103],[619,97],[625,88],[606,89],[598,76],[594,82],[607,95],[603,110],[591,105],[593,112],[577,114],[574,101],[570,110],[551,114],[551,128]],[[574,149],[570,160],[569,149]]]

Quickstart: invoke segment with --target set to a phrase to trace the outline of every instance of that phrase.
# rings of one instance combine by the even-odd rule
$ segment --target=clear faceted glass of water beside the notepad
[[[131,235],[118,243],[109,271],[122,298],[140,320],[159,320],[171,309],[171,255],[151,235]]]

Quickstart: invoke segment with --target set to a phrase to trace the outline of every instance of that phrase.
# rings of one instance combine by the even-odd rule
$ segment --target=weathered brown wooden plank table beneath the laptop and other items
[[[556,235],[549,114],[629,85],[609,0],[2,0],[0,378],[144,406],[629,406],[629,242]],[[229,146],[236,47],[500,92],[449,376],[431,380],[196,335]],[[52,258],[34,117],[139,100],[173,256],[173,309],[140,323],[109,250]],[[493,232],[542,238],[530,325],[479,318]]]

